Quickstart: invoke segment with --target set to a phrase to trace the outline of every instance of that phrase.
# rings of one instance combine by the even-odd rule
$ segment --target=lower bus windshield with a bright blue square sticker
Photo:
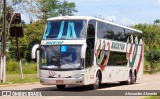
[[[40,50],[41,68],[82,69],[81,46],[42,46]]]

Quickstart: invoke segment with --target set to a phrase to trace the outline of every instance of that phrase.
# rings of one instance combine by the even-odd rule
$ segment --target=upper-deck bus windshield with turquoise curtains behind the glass
[[[86,37],[85,25],[84,20],[48,21],[43,39],[83,39]]]

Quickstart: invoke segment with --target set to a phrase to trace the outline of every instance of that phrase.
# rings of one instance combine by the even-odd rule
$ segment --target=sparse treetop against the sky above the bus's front
[[[39,0],[39,9],[41,14],[38,15],[40,19],[47,19],[59,15],[74,15],[77,12],[75,9],[75,3],[60,2],[58,0]]]

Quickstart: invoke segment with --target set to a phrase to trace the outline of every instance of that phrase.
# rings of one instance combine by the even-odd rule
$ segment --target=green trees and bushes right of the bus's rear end
[[[145,59],[150,64],[150,71],[154,71],[156,63],[160,62],[160,25],[159,20],[154,24],[137,24],[133,26],[143,32],[145,43]],[[160,66],[159,66],[160,67]]]

